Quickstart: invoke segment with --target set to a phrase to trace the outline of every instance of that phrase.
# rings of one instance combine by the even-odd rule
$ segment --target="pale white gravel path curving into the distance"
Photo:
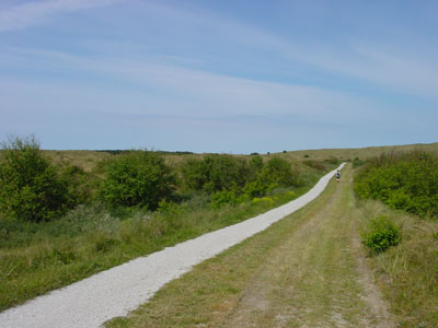
[[[344,166],[342,164],[339,169]],[[168,247],[100,272],[21,306],[0,313],[2,328],[97,328],[126,316],[166,282],[218,255],[316,198],[333,177],[332,171],[306,195],[241,223]]]

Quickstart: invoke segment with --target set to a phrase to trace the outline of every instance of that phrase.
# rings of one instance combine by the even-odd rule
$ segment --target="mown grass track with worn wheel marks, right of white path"
[[[391,327],[362,297],[349,178],[106,327]]]

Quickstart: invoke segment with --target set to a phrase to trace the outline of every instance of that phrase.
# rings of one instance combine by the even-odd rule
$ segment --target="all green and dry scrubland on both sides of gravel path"
[[[21,141],[24,156],[0,154],[0,309],[292,200],[346,161],[319,200],[108,326],[438,327],[438,143],[227,155]],[[8,171],[8,152],[39,159],[22,174],[42,177]]]

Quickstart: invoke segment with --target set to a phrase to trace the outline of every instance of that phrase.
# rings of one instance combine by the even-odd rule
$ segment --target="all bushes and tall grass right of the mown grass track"
[[[370,262],[397,327],[438,327],[437,155],[414,150],[370,159],[358,168],[355,191],[365,244],[376,255]]]

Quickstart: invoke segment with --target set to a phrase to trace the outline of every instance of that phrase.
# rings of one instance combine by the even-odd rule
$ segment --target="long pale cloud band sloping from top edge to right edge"
[[[438,97],[437,54],[427,44],[415,47],[417,42],[413,32],[402,42],[381,38],[370,43],[347,37],[335,44],[319,39],[307,43],[196,8],[188,11],[157,2],[143,5],[150,15],[197,27],[208,36],[217,35],[218,39],[227,40],[224,46],[268,49],[272,58],[278,61],[314,68],[320,74],[369,83],[401,94]]]

